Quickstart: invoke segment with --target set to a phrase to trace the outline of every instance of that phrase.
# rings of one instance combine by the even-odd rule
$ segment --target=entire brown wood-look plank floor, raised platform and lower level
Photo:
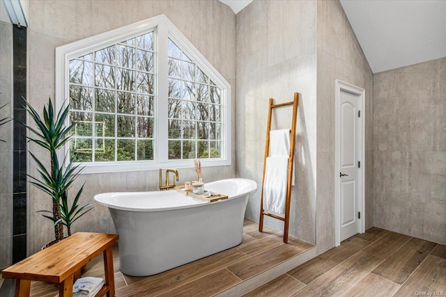
[[[116,246],[116,296],[214,296],[313,247],[295,238],[284,244],[282,233],[257,228],[245,220],[239,246],[144,278],[119,271]],[[83,276],[103,277],[102,257]],[[31,296],[57,296],[57,288],[33,282]],[[245,296],[446,296],[446,246],[373,227]]]

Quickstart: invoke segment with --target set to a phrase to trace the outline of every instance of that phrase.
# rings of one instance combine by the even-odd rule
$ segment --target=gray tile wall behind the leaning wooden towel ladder
[[[300,93],[296,133],[296,186],[290,234],[315,243],[316,207],[316,2],[253,1],[236,17],[237,176],[254,179],[246,217],[259,221],[268,100]],[[276,113],[272,129],[291,127],[292,109]],[[265,218],[283,230],[282,221]]]

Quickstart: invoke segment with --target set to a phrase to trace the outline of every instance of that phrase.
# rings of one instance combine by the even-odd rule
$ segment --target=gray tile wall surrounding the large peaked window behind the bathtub
[[[116,29],[164,13],[201,51],[208,61],[231,83],[232,115],[236,113],[236,21],[229,6],[217,0],[189,1],[30,1],[29,2],[29,101],[41,110],[49,96],[54,99],[55,48],[92,35]],[[3,40],[2,40],[3,44]],[[232,117],[235,119],[235,117]],[[232,121],[233,165],[203,168],[204,181],[236,175],[236,132]],[[33,154],[49,162],[45,152],[30,145]],[[191,164],[192,166],[192,164]],[[196,175],[192,168],[180,171],[180,182]],[[36,166],[29,162],[29,173]],[[158,171],[121,172],[83,175],[73,189],[85,180],[86,188],[79,204],[93,202],[93,196],[109,191],[147,191],[158,186]],[[36,252],[54,237],[52,223],[36,211],[51,209],[51,200],[37,188],[29,188],[30,252]],[[73,232],[114,232],[112,219],[105,207],[78,220]]]

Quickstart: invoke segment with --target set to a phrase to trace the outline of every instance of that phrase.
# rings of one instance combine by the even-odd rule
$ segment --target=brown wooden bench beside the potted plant
[[[105,284],[96,296],[114,296],[112,245],[117,234],[78,232],[4,269],[3,278],[15,278],[15,296],[29,296],[31,280],[59,284],[59,296],[72,296],[72,284],[80,278],[80,270],[103,252]]]

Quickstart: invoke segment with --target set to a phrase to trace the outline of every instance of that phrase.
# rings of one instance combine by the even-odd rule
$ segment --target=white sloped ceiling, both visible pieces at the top
[[[252,0],[220,0],[234,13]],[[371,71],[446,56],[446,0],[340,0]]]

